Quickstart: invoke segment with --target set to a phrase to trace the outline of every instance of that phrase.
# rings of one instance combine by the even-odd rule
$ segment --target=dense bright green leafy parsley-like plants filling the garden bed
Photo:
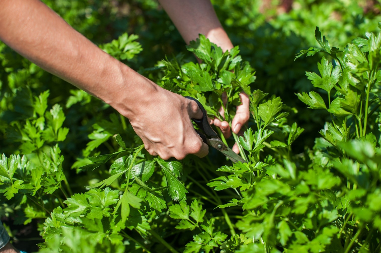
[[[0,43],[0,215],[21,249],[29,226],[40,252],[381,250],[377,7],[214,1],[239,45],[223,52],[202,35],[185,47],[153,1],[44,2],[210,117],[223,106],[231,122],[242,90],[252,117],[221,135],[247,163],[164,161],[114,109]]]

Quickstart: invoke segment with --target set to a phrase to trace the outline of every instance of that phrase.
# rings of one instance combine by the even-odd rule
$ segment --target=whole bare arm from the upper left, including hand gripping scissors
[[[0,0],[0,40],[130,119],[152,155],[207,155],[208,147],[190,120],[202,115],[194,101],[112,58],[39,0]]]

